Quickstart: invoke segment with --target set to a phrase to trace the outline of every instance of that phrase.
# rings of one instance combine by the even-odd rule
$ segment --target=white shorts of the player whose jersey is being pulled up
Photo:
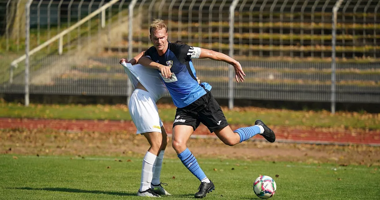
[[[136,134],[160,132],[161,122],[154,98],[144,90],[136,89],[129,99],[129,113],[137,128]]]

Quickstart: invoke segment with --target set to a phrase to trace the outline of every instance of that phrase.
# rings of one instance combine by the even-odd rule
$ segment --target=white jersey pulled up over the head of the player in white
[[[137,83],[140,82],[150,93],[150,96],[154,98],[155,102],[168,93],[168,90],[156,69],[144,67],[141,64],[131,65],[126,62],[123,62],[122,66],[125,73],[128,74],[128,78],[131,80],[133,88],[136,88]]]

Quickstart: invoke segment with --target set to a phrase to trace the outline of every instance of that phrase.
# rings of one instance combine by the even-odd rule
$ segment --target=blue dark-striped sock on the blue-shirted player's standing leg
[[[179,159],[181,162],[185,165],[185,167],[191,171],[191,173],[196,176],[196,178],[199,179],[199,181],[202,181],[204,178],[206,178],[206,174],[204,174],[201,167],[198,165],[198,162],[196,161],[194,155],[190,152],[188,148],[186,148],[183,152],[178,154]]]

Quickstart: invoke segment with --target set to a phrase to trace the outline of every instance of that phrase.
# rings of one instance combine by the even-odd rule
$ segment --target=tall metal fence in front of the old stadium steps
[[[149,24],[161,18],[169,41],[241,62],[246,81],[234,83],[228,64],[193,60],[230,107],[233,99],[331,102],[333,112],[335,102],[380,103],[379,1],[30,0],[29,18],[27,2],[0,0],[0,93],[128,96],[118,61],[149,48]],[[11,66],[25,49],[26,75],[25,59]]]

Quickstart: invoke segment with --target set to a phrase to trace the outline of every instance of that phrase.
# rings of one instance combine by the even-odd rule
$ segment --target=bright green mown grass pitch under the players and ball
[[[1,199],[142,199],[135,196],[141,158],[123,157],[119,162],[112,157],[15,156],[17,159],[0,155]],[[260,174],[271,176],[277,183],[272,199],[363,200],[380,195],[380,175],[374,167],[213,159],[198,162],[215,184],[215,191],[206,197],[210,200],[259,199],[252,184]],[[178,159],[165,158],[161,174],[161,181],[169,184],[166,189],[173,194],[164,198],[194,198],[199,181]]]

